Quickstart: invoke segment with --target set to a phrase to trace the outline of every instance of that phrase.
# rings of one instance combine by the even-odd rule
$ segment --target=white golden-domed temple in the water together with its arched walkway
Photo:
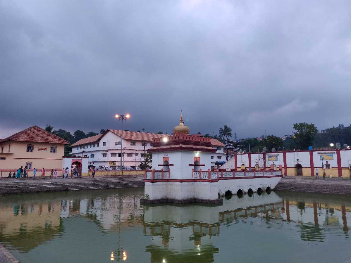
[[[152,169],[145,171],[142,203],[222,204],[221,195],[270,190],[282,178],[281,170],[211,170],[211,138],[189,135],[181,112],[179,121],[174,134],[154,138],[148,150]]]

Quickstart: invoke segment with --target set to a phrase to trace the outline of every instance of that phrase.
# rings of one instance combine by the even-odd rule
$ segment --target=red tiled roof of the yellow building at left
[[[29,127],[5,139],[0,139],[0,142],[6,142],[6,141],[48,142],[48,143],[69,144],[69,142],[67,142],[66,140],[52,133],[49,133],[48,131],[38,126]]]

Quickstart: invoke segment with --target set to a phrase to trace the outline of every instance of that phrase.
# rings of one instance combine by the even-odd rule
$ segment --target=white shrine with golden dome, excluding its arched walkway
[[[211,171],[211,139],[189,135],[180,112],[172,135],[153,139],[152,169],[145,172],[142,203],[222,203],[218,172]]]

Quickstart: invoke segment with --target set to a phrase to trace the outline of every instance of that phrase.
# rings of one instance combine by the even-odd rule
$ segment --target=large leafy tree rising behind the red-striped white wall
[[[314,137],[317,134],[317,128],[313,123],[308,124],[306,122],[294,123],[294,135],[296,136],[296,144],[302,150],[312,146]]]

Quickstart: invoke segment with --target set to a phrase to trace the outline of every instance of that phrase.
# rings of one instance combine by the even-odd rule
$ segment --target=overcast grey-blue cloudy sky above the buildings
[[[0,0],[0,138],[351,123],[351,2]]]

